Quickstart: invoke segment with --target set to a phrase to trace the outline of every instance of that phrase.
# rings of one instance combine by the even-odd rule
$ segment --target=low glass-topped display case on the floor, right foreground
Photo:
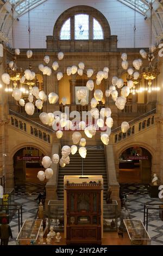
[[[130,245],[151,245],[151,238],[141,220],[123,220]]]

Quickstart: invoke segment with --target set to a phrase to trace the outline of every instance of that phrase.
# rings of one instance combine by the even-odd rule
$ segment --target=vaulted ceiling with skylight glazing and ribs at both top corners
[[[47,0],[0,0],[0,39],[3,35],[8,35],[11,27],[11,6],[14,3],[14,19],[18,19],[26,13]],[[139,11],[145,16],[145,20],[149,19],[149,4],[151,0],[117,0],[129,8]],[[163,38],[163,0],[153,0],[153,33],[159,40]]]

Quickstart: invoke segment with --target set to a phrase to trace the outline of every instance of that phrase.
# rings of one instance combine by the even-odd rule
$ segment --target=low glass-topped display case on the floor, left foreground
[[[16,238],[16,245],[37,245],[42,220],[25,220]]]

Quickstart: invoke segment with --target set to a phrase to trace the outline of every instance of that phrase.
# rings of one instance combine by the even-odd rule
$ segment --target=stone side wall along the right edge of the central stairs
[[[117,182],[114,151],[112,145],[105,146],[105,159],[108,174],[108,187],[111,187],[111,198],[117,200],[118,209],[121,208],[120,185]]]

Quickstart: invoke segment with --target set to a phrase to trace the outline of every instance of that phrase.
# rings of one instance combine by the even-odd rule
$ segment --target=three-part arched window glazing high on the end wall
[[[103,40],[104,33],[101,24],[89,14],[76,14],[74,21],[74,38],[71,35],[71,19],[68,18],[61,27],[60,40]],[[92,23],[92,26],[90,26]],[[91,29],[90,29],[91,28]],[[90,31],[91,30],[91,31]]]

